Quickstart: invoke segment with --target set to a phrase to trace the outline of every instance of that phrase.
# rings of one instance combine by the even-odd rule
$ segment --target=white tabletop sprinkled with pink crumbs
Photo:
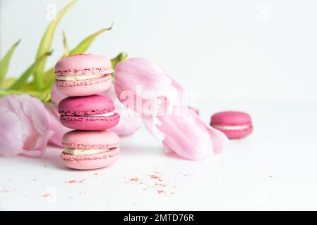
[[[201,104],[206,122],[235,109],[255,127],[203,162],[164,155],[144,127],[121,139],[121,158],[105,169],[67,169],[54,147],[42,158],[0,158],[0,210],[317,210],[316,105]]]

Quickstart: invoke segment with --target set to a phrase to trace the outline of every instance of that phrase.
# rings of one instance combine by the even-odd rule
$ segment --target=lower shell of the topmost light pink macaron
[[[56,88],[66,96],[90,96],[107,91],[107,89],[112,86],[110,75],[107,79],[102,78],[103,77],[99,79],[83,80],[78,82],[78,84],[73,84],[72,86],[66,86],[66,82],[59,82],[56,80]]]

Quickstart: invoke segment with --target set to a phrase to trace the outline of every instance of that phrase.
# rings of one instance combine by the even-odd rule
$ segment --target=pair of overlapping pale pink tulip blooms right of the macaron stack
[[[119,101],[142,116],[167,153],[203,160],[220,153],[227,142],[225,134],[205,124],[196,110],[181,106],[185,89],[154,63],[130,58],[116,65],[114,79]]]

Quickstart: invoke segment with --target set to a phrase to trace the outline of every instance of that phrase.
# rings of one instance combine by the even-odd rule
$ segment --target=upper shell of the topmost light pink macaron
[[[113,72],[109,58],[80,53],[62,58],[55,65],[56,75],[100,75]]]

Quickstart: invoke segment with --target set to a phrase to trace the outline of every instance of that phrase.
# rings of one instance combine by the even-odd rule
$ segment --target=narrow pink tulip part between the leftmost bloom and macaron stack
[[[59,122],[58,107],[55,103],[45,103],[45,108],[47,109],[47,113],[49,113],[49,129],[54,132],[49,138],[49,143],[58,147],[63,147],[61,145],[61,138],[71,129],[64,127],[61,122]]]

